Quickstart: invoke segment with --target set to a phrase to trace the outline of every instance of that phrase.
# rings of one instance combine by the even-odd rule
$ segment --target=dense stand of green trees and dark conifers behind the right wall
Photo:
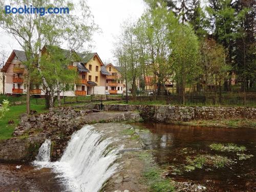
[[[133,97],[255,99],[253,0],[144,1],[147,9],[125,20],[113,50]]]

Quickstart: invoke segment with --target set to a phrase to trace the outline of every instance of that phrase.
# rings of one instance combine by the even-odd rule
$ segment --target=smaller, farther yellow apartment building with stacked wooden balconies
[[[122,94],[125,91],[124,80],[122,79],[120,68],[109,63],[105,69],[110,75],[106,76],[105,90],[110,94]]]

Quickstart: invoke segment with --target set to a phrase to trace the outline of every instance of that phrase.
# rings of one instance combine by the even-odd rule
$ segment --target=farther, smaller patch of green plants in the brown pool
[[[224,145],[222,143],[212,143],[209,145],[209,147],[211,148],[211,150],[221,151],[221,152],[244,152],[244,151],[246,151],[245,146],[243,146],[243,145],[238,146],[233,143],[228,143],[226,145]]]

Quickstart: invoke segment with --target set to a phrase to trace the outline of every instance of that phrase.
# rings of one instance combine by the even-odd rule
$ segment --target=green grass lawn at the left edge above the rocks
[[[15,126],[19,123],[19,115],[26,113],[26,105],[10,106],[9,111],[6,113],[3,119],[0,120],[0,140],[10,139]],[[31,110],[35,110],[38,113],[46,112],[45,105],[31,104]],[[14,124],[8,124],[8,121],[12,119]]]

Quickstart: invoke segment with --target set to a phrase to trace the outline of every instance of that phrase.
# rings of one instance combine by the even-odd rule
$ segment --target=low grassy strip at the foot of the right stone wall
[[[176,121],[174,124],[191,126],[211,126],[211,127],[250,127],[256,129],[256,119],[216,119],[216,120],[191,120],[187,122]]]

